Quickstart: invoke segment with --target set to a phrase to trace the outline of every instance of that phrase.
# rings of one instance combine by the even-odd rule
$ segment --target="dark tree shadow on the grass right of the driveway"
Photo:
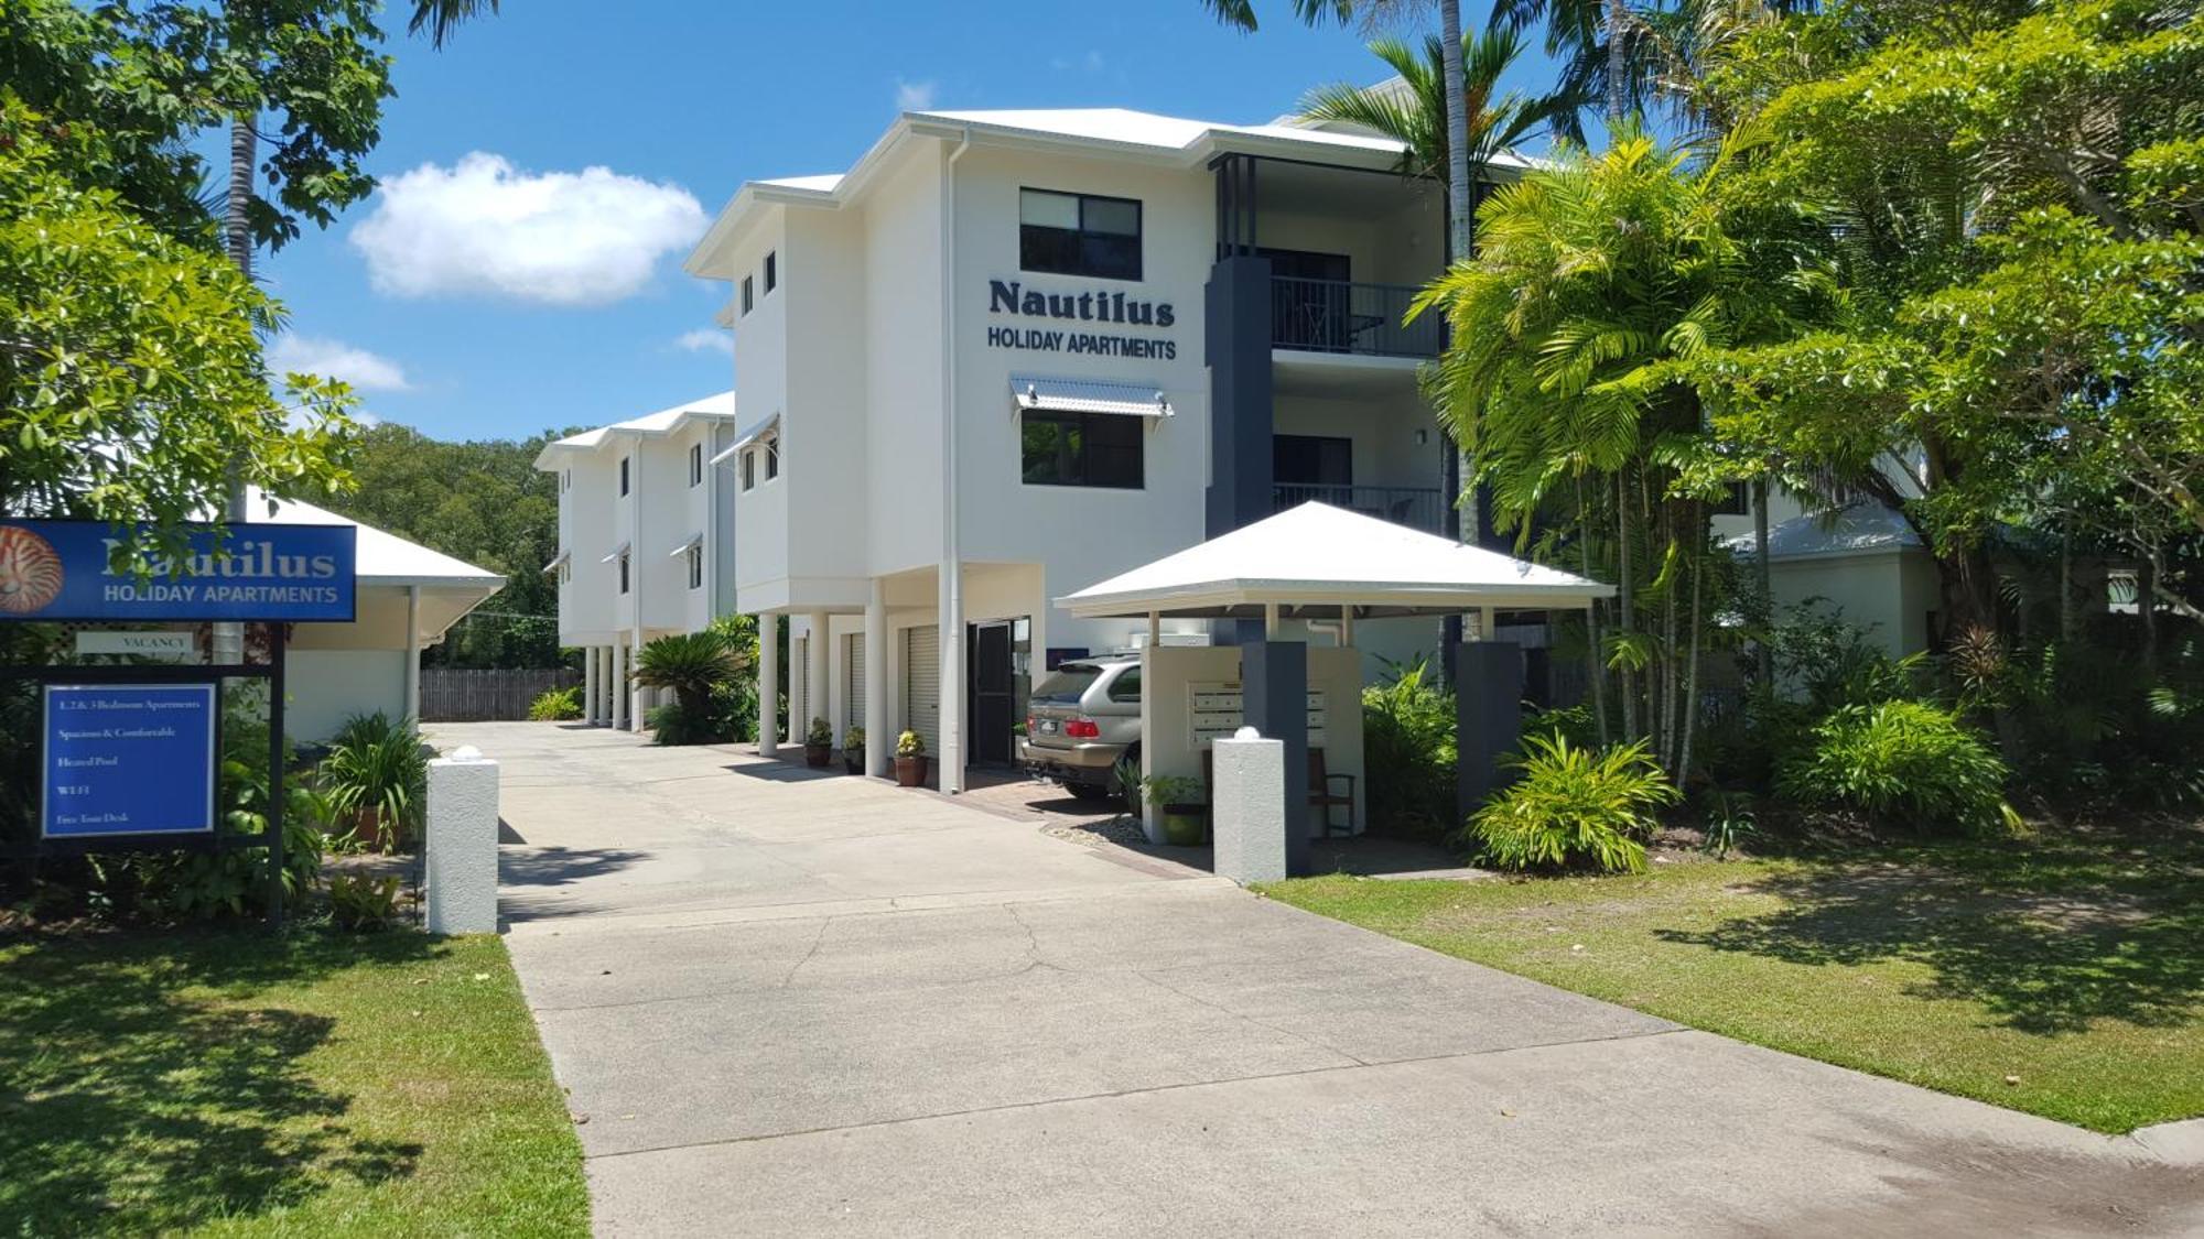
[[[2204,831],[2070,831],[1814,862],[1754,882],[1785,908],[1666,941],[1790,963],[1913,961],[1909,992],[1981,1003],[2054,1036],[2118,1019],[2171,1027],[2204,1010]]]

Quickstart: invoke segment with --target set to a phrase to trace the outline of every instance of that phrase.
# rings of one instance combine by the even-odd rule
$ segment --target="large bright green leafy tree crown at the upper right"
[[[2076,496],[2127,496],[2118,536],[2144,556],[2204,531],[2204,18],[2063,0],[1891,20],[1915,9],[1847,4],[1730,57],[1724,86],[1774,139],[1748,192],[1812,214],[1843,295],[1821,331],[1695,370],[1721,437],[1902,511],[1957,631],[1997,622],[1999,531],[2067,520]],[[1790,73],[1763,62],[1798,46],[1825,73],[1759,101]]]

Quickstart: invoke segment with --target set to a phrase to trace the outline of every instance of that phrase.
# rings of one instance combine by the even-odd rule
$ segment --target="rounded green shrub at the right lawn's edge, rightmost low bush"
[[[1951,710],[1924,701],[1845,705],[1812,732],[1812,747],[1776,772],[1803,805],[1834,805],[1924,831],[2017,829],[2006,763]]]

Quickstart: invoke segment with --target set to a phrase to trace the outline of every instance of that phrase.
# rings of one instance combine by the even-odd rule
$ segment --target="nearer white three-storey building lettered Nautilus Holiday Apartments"
[[[1444,324],[1402,326],[1446,220],[1400,157],[1294,123],[906,112],[849,172],[743,185],[688,271],[734,289],[734,608],[765,683],[791,620],[791,730],[866,723],[873,774],[917,730],[959,791],[1014,761],[1034,677],[1146,635],[1054,600],[1311,498],[1446,531],[1417,390]],[[1435,653],[1439,624],[1355,644]]]

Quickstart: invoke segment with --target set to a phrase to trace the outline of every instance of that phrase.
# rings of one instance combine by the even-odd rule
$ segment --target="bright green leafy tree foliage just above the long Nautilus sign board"
[[[174,529],[220,509],[231,470],[346,485],[348,390],[298,377],[278,406],[256,335],[276,304],[86,187],[108,150],[0,93],[0,509]]]

